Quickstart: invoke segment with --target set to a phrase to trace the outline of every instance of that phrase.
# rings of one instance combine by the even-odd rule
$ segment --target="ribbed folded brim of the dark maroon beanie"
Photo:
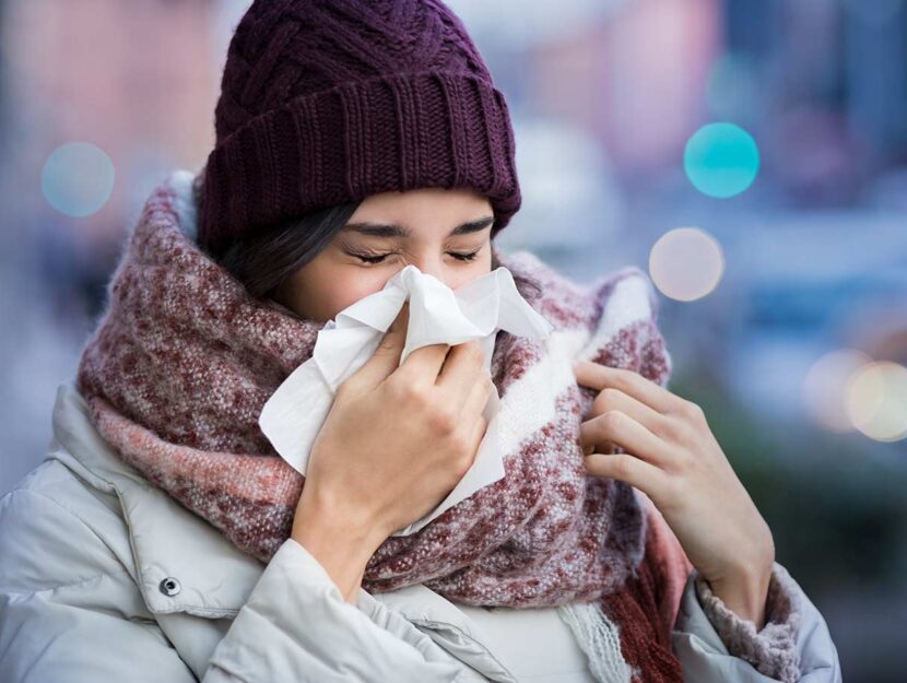
[[[257,116],[208,157],[200,232],[215,250],[316,209],[384,191],[474,188],[493,235],[519,210],[503,93],[468,73],[344,83]]]

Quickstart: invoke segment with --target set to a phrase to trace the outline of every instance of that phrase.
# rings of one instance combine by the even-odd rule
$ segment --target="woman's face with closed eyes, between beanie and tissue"
[[[364,199],[318,256],[274,298],[326,322],[409,264],[451,290],[491,272],[494,215],[488,199],[463,188],[420,188]]]

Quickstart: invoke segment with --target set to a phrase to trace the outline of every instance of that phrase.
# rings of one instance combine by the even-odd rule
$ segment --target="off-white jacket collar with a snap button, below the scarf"
[[[209,619],[235,616],[248,601],[264,565],[125,462],[95,428],[89,405],[72,379],[57,388],[52,427],[47,459],[59,460],[87,484],[119,498],[136,581],[149,610]],[[167,578],[179,581],[178,594],[162,592],[161,584]],[[484,638],[472,620],[425,586],[378,596],[360,588],[356,607],[377,621],[385,610],[392,609],[491,680],[515,682],[483,645]]]

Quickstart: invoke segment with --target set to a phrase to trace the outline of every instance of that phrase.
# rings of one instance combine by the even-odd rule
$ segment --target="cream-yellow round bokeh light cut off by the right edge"
[[[907,368],[891,361],[864,365],[848,386],[853,425],[877,441],[907,437]]]

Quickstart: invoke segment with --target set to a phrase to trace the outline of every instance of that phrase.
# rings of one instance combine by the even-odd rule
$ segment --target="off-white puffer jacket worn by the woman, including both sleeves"
[[[461,608],[421,585],[352,605],[292,539],[262,565],[123,463],[72,381],[54,435],[0,499],[3,683],[596,680],[554,609]],[[776,572],[800,602],[799,680],[839,682],[824,619]],[[729,652],[694,578],[673,635],[685,680],[775,680]]]

